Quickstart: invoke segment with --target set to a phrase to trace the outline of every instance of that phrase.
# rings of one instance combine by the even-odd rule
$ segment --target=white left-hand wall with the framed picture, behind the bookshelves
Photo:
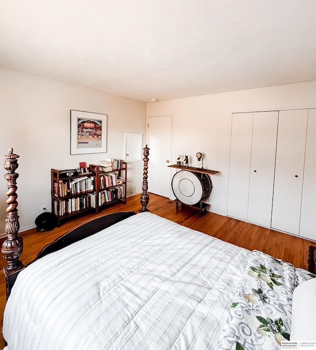
[[[70,110],[108,115],[107,153],[70,155]],[[123,157],[123,133],[146,133],[146,104],[89,88],[0,68],[0,156],[20,156],[17,172],[21,231],[51,210],[50,169],[73,169]],[[0,234],[5,226],[5,170],[0,172]],[[128,164],[127,188],[142,189],[143,161]]]

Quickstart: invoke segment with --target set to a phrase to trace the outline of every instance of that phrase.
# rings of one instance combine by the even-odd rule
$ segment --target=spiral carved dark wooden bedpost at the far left
[[[19,174],[15,172],[16,168],[19,166],[17,158],[19,156],[13,153],[13,149],[9,149],[9,153],[4,158],[4,169],[7,170],[7,174],[4,174],[4,179],[6,180],[6,186],[8,191],[6,195],[9,197],[6,200],[8,207],[6,208],[7,216],[5,219],[5,233],[7,239],[2,244],[2,254],[3,258],[7,261],[8,265],[3,269],[5,276],[10,272],[20,270],[23,268],[22,262],[19,260],[20,255],[23,250],[23,238],[18,236],[20,229],[19,216],[18,216],[18,202],[16,179]]]

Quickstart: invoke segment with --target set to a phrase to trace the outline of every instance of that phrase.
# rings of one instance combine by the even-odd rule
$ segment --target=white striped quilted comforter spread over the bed
[[[7,349],[216,349],[250,254],[137,214],[19,274]]]

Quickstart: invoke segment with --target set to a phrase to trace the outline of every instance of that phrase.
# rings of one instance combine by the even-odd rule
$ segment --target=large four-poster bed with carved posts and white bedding
[[[5,350],[274,350],[292,340],[295,322],[311,337],[300,339],[295,329],[295,339],[313,341],[314,320],[301,311],[305,296],[315,298],[315,275],[150,213],[146,149],[139,213],[74,228],[27,267],[19,263],[17,232],[10,231],[19,251],[11,269],[2,248],[11,264]],[[10,152],[12,204],[17,159]],[[7,210],[14,230],[16,205]]]

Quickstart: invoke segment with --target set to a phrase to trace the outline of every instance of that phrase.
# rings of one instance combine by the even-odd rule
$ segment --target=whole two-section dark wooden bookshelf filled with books
[[[127,163],[89,165],[89,172],[51,169],[51,207],[60,227],[64,219],[86,212],[99,213],[116,201],[126,203]]]

